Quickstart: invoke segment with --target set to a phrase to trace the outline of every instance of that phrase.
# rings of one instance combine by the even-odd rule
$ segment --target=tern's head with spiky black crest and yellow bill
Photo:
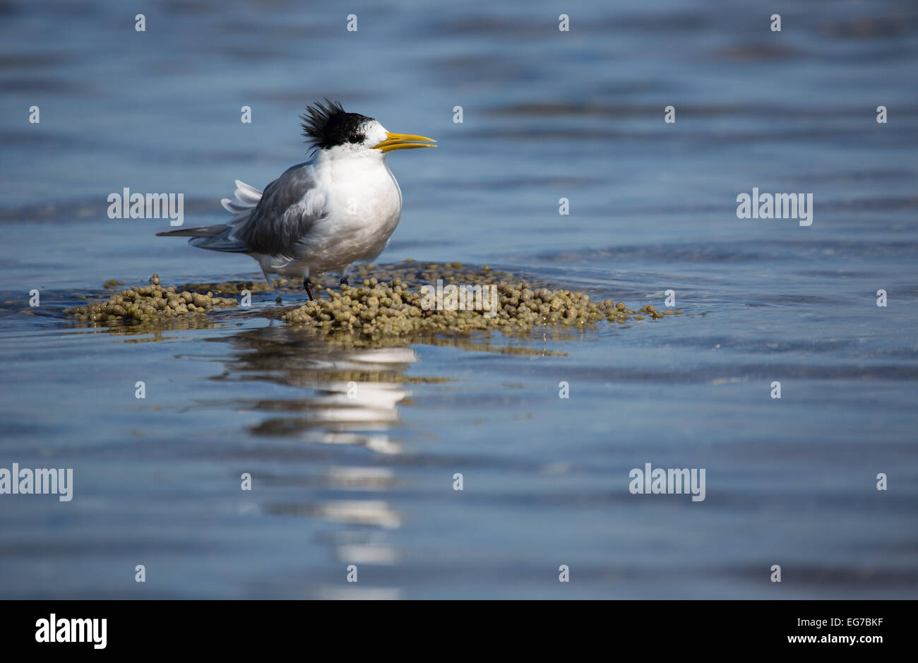
[[[436,147],[436,140],[408,133],[389,133],[374,118],[348,113],[335,101],[307,107],[300,116],[303,136],[315,150],[385,155],[396,150]]]

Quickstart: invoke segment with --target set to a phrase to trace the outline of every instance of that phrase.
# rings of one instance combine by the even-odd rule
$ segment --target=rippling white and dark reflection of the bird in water
[[[386,500],[371,496],[378,498],[399,484],[386,457],[402,452],[401,444],[391,440],[389,433],[399,422],[398,404],[410,395],[405,371],[418,362],[414,350],[342,348],[308,332],[275,326],[220,340],[229,341],[236,351],[235,358],[227,363],[229,374],[225,378],[264,380],[306,392],[304,396],[250,403],[249,409],[269,415],[252,426],[253,435],[295,438],[309,444],[359,445],[372,452],[365,466],[339,464],[339,454],[334,451],[318,456],[314,459],[317,462],[308,456],[304,463],[289,464],[297,476],[270,478],[270,483],[291,489],[291,495],[296,491],[297,498],[307,486],[316,499],[273,500],[263,504],[263,512],[335,523],[332,532],[320,535],[319,543],[333,548],[342,569],[351,564],[397,564],[397,548],[386,541],[401,526],[402,516]],[[351,453],[342,455],[353,458]],[[368,493],[368,498],[361,499],[360,493]],[[323,499],[328,494],[335,499]],[[337,499],[340,494],[346,494],[347,499]],[[311,587],[310,593],[320,598],[400,596],[396,588],[344,582],[343,573],[341,580],[340,586]]]

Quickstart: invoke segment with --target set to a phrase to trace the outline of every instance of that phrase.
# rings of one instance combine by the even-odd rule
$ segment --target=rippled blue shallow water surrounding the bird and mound
[[[0,496],[0,596],[914,598],[918,8],[566,3],[569,33],[541,2],[348,11],[356,33],[333,3],[164,3],[137,33],[117,2],[0,6],[0,467],[74,476],[70,502]],[[217,222],[234,179],[305,158],[321,96],[441,141],[389,160],[381,261],[686,314],[358,351],[260,315],[62,318],[112,277],[256,277],[106,197]],[[737,219],[754,186],[811,192],[812,226]],[[706,499],[632,495],[646,463],[705,468]]]

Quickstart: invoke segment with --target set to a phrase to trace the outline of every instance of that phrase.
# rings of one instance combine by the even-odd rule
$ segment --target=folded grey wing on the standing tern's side
[[[247,219],[231,230],[250,253],[293,257],[325,212],[311,163],[299,163],[264,188]]]

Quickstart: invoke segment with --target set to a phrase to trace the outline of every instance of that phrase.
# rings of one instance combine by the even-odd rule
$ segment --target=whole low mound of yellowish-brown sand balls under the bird
[[[362,265],[352,286],[325,280],[315,288],[316,300],[295,307],[247,309],[228,316],[280,318],[293,327],[310,328],[328,340],[360,343],[429,333],[465,333],[499,329],[526,332],[533,327],[577,329],[599,320],[659,319],[681,311],[657,311],[653,306],[629,309],[612,299],[593,301],[582,292],[550,287],[547,282],[525,279],[489,266],[459,263],[435,264],[405,261],[388,265]],[[109,282],[109,284],[113,283]],[[109,285],[106,284],[106,285]],[[149,286],[121,290],[108,299],[67,309],[78,322],[90,326],[173,328],[197,324],[176,323],[201,319],[219,309],[240,307],[245,291],[268,291],[263,281],[187,284],[162,287],[158,275]],[[302,301],[306,297],[296,279],[279,279],[272,291]],[[278,305],[284,297],[277,297]]]

